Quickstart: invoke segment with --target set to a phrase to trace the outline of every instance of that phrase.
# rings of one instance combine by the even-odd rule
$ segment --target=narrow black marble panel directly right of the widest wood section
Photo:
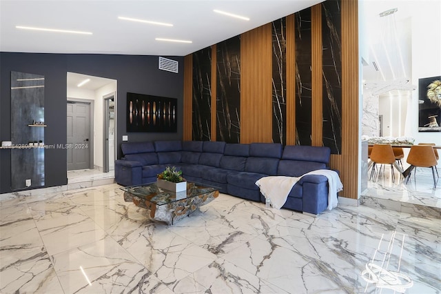
[[[272,22],[273,142],[286,144],[287,137],[287,24],[286,18]]]

